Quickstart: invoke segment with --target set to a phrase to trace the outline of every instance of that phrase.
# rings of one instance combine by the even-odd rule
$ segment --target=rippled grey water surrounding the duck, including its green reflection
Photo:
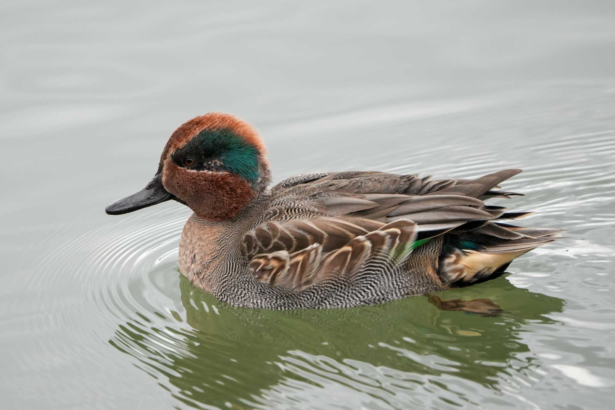
[[[611,408],[615,3],[4,1],[0,407]],[[178,274],[189,211],[121,217],[185,120],[227,111],[276,181],[503,168],[569,229],[510,274],[359,309],[228,306]]]

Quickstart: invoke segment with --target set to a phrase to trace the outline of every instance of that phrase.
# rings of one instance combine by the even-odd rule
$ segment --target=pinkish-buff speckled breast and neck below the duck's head
[[[262,191],[237,213],[224,221],[207,221],[192,214],[181,232],[180,272],[190,282],[212,291],[229,259],[239,258],[240,241],[263,215],[269,190]],[[237,270],[244,269],[237,266]]]

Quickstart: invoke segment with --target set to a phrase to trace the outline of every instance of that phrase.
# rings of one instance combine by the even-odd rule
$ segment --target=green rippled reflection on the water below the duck
[[[221,305],[183,277],[180,290],[185,312],[173,312],[174,325],[161,313],[167,325],[139,314],[109,342],[183,403],[221,408],[267,406],[285,392],[301,397],[325,384],[361,392],[371,408],[399,408],[399,392],[434,389],[442,403],[472,401],[477,392],[464,389],[498,390],[503,376],[538,366],[522,333],[554,323],[545,315],[564,305],[504,277],[439,293],[490,298],[504,310],[498,317],[443,312],[425,297],[354,309],[250,310]],[[187,323],[175,321],[180,316]],[[442,377],[468,387],[450,390]]]

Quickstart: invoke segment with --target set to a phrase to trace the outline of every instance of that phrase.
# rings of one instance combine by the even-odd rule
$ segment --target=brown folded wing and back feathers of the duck
[[[375,253],[387,253],[388,263],[394,265],[407,256],[411,241],[449,231],[475,232],[502,241],[483,249],[483,255],[523,253],[552,242],[555,230],[501,223],[527,213],[483,202],[520,195],[495,191],[519,172],[440,180],[374,171],[293,176],[271,189],[269,208],[245,235],[242,252],[252,259],[250,269],[259,280],[293,290],[331,275],[355,275]],[[462,261],[482,267],[499,256],[480,258],[474,255]]]

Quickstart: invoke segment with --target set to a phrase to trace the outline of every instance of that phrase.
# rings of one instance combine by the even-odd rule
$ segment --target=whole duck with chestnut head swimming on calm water
[[[373,305],[475,285],[560,229],[486,205],[522,195],[499,184],[520,173],[433,179],[380,171],[306,173],[270,187],[263,139],[232,114],[180,125],[154,177],[106,207],[121,215],[175,200],[191,208],[179,271],[228,304],[263,309]]]

